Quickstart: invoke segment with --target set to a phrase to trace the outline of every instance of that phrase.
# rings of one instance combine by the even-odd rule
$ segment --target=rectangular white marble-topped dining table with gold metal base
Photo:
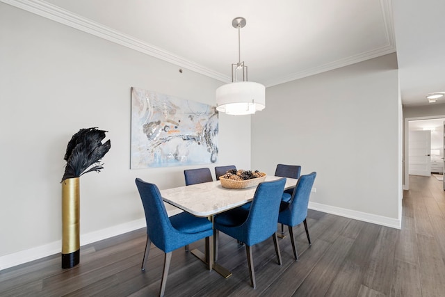
[[[265,182],[286,178],[284,189],[296,186],[298,179],[289,177],[275,177],[266,175]],[[171,204],[189,214],[198,217],[207,217],[213,223],[213,216],[229,209],[240,207],[251,202],[257,186],[249,188],[224,188],[221,182],[204,182],[189,186],[179,186],[177,188],[167,188],[160,190],[163,201]],[[215,270],[225,278],[229,278],[232,273],[227,268],[216,263],[214,258],[213,236],[209,239],[209,246],[206,246],[205,253],[200,250],[192,250],[196,257],[209,265],[209,269]]]

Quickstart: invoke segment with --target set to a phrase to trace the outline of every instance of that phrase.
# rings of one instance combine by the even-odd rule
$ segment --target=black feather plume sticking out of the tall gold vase
[[[111,141],[102,143],[105,133],[108,131],[95,128],[80,129],[74,134],[67,145],[67,152],[63,158],[67,161],[62,182],[65,179],[80,177],[86,172],[100,172],[102,167],[100,161],[110,150]]]

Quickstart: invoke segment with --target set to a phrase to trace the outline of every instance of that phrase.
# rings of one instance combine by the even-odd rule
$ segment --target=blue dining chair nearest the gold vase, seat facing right
[[[154,243],[165,253],[159,293],[159,296],[163,296],[172,251],[204,238],[206,239],[206,249],[209,250],[209,236],[213,234],[212,223],[207,218],[197,218],[185,211],[169,218],[159,188],[155,184],[137,178],[136,186],[143,203],[147,223],[147,243],[141,269],[145,271],[150,246]],[[211,270],[210,266],[209,270]]]

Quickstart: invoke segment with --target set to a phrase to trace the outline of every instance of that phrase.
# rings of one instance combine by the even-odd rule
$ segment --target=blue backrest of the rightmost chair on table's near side
[[[309,196],[311,195],[316,175],[316,172],[312,172],[309,175],[302,175],[298,179],[289,202],[289,209],[285,210],[290,212],[289,218],[287,218],[288,222],[284,222],[285,225],[298,225],[307,217],[307,205],[309,204]],[[282,211],[280,218],[283,217],[283,214]]]

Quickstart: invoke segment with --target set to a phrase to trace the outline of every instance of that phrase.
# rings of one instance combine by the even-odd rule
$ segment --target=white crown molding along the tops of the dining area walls
[[[142,40],[133,38],[130,35],[121,33],[119,31],[115,31],[109,28],[108,26],[104,26],[90,19],[86,19],[85,17],[81,17],[80,15],[71,13],[68,10],[60,8],[58,6],[54,6],[53,4],[48,3],[46,1],[0,0],[0,2],[7,3],[17,8],[21,8],[30,13],[34,13],[35,15],[40,15],[41,17],[46,17],[47,19],[51,19],[60,24],[65,24],[74,29],[90,33],[99,38],[115,42],[118,45],[122,45],[124,47],[140,51],[143,54],[153,56],[154,58],[159,58],[168,63],[172,63],[173,65],[178,65],[179,67],[184,67],[188,70],[192,70],[199,74],[203,74],[212,79],[216,79],[218,81],[222,81],[225,83],[231,81],[230,77],[227,77],[226,75],[221,74],[220,72],[210,70],[207,67],[198,65],[197,63],[193,63],[192,61],[188,61],[185,58],[181,58],[180,56],[170,53],[169,51],[165,51],[164,49],[155,47],[154,45],[149,45],[147,42],[143,42]],[[302,70],[300,72],[295,72],[285,77],[264,81],[264,85],[266,87],[276,86],[280,83],[286,83],[289,81],[294,81],[296,79],[302,79],[303,77],[309,77],[314,74],[319,74],[329,70],[334,70],[340,67],[363,62],[371,58],[377,58],[379,56],[384,56],[386,54],[394,53],[396,51],[396,46],[394,42],[394,25],[393,25],[394,22],[392,19],[391,0],[380,0],[380,8],[382,9],[382,17],[384,19],[385,29],[386,29],[385,35],[387,38],[387,45],[385,45],[384,47],[380,47],[372,51],[367,51],[355,56],[350,56],[348,58],[343,58],[341,60],[334,61],[332,63],[327,63],[318,67],[313,67],[307,70]]]

